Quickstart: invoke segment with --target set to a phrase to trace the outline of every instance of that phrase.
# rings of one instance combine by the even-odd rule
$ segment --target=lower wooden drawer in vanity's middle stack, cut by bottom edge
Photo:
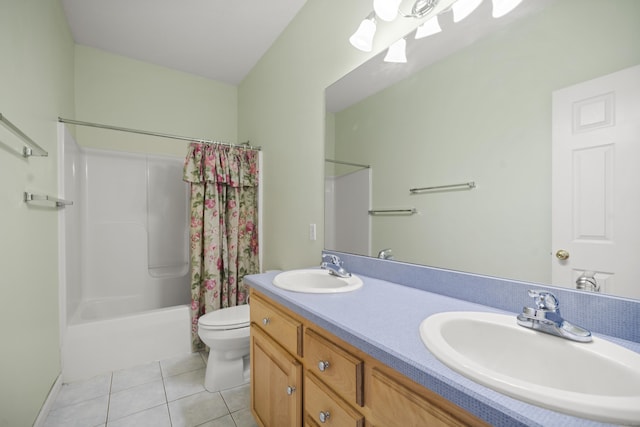
[[[364,417],[340,397],[334,395],[314,374],[304,377],[305,419],[316,425],[333,427],[363,427]],[[306,421],[307,425],[313,421]]]

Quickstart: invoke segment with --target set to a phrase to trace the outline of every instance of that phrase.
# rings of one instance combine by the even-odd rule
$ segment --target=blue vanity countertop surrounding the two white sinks
[[[477,384],[427,350],[419,333],[428,316],[445,311],[512,314],[485,305],[358,274],[364,286],[340,294],[285,291],[272,284],[277,271],[246,276],[256,290],[435,391],[494,426],[605,426],[530,405]],[[633,351],[640,344],[594,334]],[[499,351],[499,350],[498,350]]]

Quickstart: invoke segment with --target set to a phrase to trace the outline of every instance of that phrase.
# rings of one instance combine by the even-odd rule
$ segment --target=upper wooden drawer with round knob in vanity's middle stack
[[[364,405],[364,363],[312,329],[304,333],[305,365],[348,402]]]

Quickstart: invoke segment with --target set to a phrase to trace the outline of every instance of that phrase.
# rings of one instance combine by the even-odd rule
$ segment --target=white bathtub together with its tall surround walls
[[[189,354],[183,160],[59,137],[62,380]]]

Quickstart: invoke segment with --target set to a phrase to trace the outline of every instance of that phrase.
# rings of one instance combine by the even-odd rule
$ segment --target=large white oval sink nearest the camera
[[[523,328],[516,316],[446,312],[420,324],[426,347],[496,391],[596,421],[640,425],[640,354],[594,337],[578,343]]]

